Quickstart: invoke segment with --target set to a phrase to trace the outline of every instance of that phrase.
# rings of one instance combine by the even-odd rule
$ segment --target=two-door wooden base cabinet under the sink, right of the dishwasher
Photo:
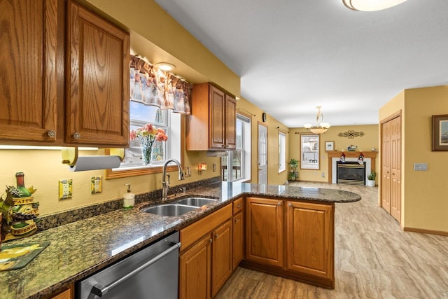
[[[232,204],[181,230],[179,298],[211,298],[232,274]]]

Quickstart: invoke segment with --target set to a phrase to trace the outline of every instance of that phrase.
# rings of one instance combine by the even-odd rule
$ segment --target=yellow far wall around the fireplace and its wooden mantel
[[[348,139],[346,137],[337,136],[341,132],[353,130],[356,132],[364,132],[363,137],[355,137]],[[289,130],[289,158],[295,158],[300,161],[300,133],[309,133],[308,130],[302,128],[294,128]],[[356,151],[372,151],[372,148],[378,150],[378,125],[349,125],[349,126],[332,126],[327,132],[321,134],[320,138],[320,154],[321,169],[299,169],[300,181],[321,181],[328,182],[328,154],[325,152],[325,141],[335,141],[335,151],[347,151],[347,146],[358,146]],[[376,160],[376,169],[378,169],[378,160]],[[289,170],[289,169],[288,169]]]

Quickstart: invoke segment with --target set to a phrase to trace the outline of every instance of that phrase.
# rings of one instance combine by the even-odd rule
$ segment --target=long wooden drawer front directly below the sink
[[[183,228],[181,230],[181,251],[187,249],[191,244],[200,239],[200,237],[208,234],[230,217],[232,217],[232,204],[228,204],[209,216]]]

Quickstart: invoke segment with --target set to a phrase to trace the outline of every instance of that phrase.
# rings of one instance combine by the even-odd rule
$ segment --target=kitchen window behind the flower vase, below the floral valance
[[[130,101],[130,130],[147,123],[162,128],[168,135],[168,141],[155,142],[152,153],[154,162],[144,165],[139,141],[130,140],[130,147],[125,148],[125,158],[120,167],[106,171],[108,179],[160,172],[160,167],[166,160],[181,160],[181,114]]]

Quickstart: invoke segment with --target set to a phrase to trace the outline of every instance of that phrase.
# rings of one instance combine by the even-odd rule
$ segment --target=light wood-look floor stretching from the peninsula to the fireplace
[[[377,187],[293,184],[363,197],[336,204],[335,289],[238,267],[216,298],[448,298],[448,237],[403,232],[378,207]]]

